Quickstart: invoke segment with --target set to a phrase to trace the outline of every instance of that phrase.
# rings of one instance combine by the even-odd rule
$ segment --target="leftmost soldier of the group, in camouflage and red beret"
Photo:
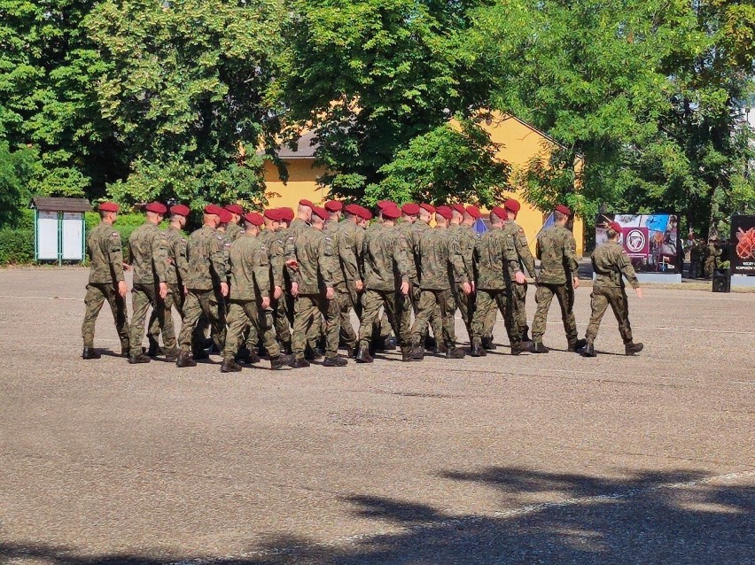
[[[113,312],[115,330],[121,338],[121,354],[128,355],[128,315],[126,313],[126,293],[128,288],[123,278],[123,252],[121,234],[113,229],[118,220],[120,206],[114,202],[103,202],[98,206],[99,225],[87,236],[87,254],[90,258],[90,278],[87,296],[84,298],[86,313],[82,323],[84,351],[82,359],[99,359],[100,353],[94,348],[94,330],[97,314],[107,300]]]

